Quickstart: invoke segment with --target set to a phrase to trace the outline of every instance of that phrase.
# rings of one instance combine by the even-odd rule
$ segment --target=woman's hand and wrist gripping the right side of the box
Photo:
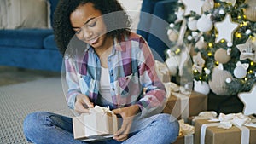
[[[130,107],[123,107],[114,109],[115,114],[119,114],[123,118],[123,124],[121,128],[113,135],[113,139],[116,141],[125,141],[128,138],[128,134],[131,130],[131,124],[134,116],[139,112],[138,105],[132,105]]]

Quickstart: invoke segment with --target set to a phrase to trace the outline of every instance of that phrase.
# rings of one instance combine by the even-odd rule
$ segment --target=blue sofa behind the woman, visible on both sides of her
[[[167,20],[169,14],[173,14],[173,10],[171,9],[170,12],[170,8],[174,2],[176,0],[144,0],[142,11]],[[52,20],[58,0],[49,0],[49,3]],[[149,46],[160,55],[162,60],[165,60],[164,51],[168,48],[165,42],[169,43],[166,36],[166,23],[160,23],[157,19],[150,17],[141,17],[139,26],[149,29],[149,33],[146,35],[139,31],[137,33],[143,35]],[[160,33],[163,38],[155,37],[155,32]],[[157,60],[160,58],[156,56]],[[53,30],[0,30],[0,66],[61,72],[62,56],[56,47]]]

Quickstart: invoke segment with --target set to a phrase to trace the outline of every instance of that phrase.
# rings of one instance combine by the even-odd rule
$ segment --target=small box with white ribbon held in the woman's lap
[[[90,113],[73,117],[74,139],[96,141],[113,137],[118,130],[117,116],[106,107],[94,107]]]

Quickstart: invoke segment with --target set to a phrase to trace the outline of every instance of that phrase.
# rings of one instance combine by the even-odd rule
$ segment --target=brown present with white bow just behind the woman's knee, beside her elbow
[[[163,112],[172,114],[178,119],[182,118],[187,122],[187,118],[190,116],[207,110],[207,95],[186,90],[172,82],[165,85],[167,93],[171,92],[169,92],[169,97],[167,96],[168,100]]]

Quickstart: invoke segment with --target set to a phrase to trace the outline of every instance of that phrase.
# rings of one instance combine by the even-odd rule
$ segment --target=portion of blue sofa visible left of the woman
[[[49,3],[53,12],[58,1]],[[55,45],[53,30],[0,30],[0,66],[61,72],[62,56]]]

